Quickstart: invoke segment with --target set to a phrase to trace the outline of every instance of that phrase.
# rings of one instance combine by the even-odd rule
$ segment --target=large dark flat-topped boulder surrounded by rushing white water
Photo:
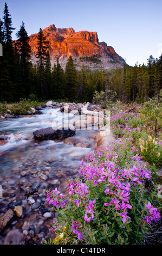
[[[63,139],[67,138],[70,136],[75,135],[75,130],[67,129],[67,130],[54,130],[52,127],[49,128],[44,128],[40,130],[36,130],[33,132],[34,138],[37,139],[38,141],[43,141],[43,140],[55,140],[55,139]]]

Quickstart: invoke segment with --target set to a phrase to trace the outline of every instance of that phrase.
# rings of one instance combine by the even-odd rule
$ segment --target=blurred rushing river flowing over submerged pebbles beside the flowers
[[[9,209],[21,206],[21,217],[14,214],[0,233],[0,244],[41,244],[48,238],[56,218],[46,202],[46,190],[66,190],[69,179],[79,176],[80,161],[96,148],[98,130],[76,130],[62,141],[36,141],[33,132],[51,127],[61,120],[59,108],[44,108],[43,114],[31,117],[0,119],[0,136],[9,142],[0,146],[0,217]],[[73,114],[66,114],[72,119]],[[68,144],[67,144],[68,143]],[[88,143],[87,148],[76,147]]]

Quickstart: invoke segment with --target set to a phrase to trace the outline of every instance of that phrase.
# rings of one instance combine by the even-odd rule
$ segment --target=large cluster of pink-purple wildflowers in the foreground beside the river
[[[72,216],[68,218],[72,220],[70,234],[76,234],[79,240],[82,240],[83,235],[85,237],[85,230],[89,229],[87,229],[88,225],[94,227],[94,221],[96,222],[96,218],[100,216],[99,212],[103,216],[112,215],[113,220],[118,218],[118,222],[125,225],[128,221],[129,223],[133,221],[131,211],[134,212],[135,209],[132,193],[135,191],[136,195],[139,195],[145,180],[151,179],[151,170],[143,166],[141,157],[134,152],[133,154],[136,155],[132,154],[130,161],[125,166],[121,166],[119,159],[122,159],[121,149],[124,146],[125,142],[121,142],[120,145],[114,143],[89,153],[85,161],[81,161],[79,170],[85,183],[79,180],[69,183],[67,188],[69,200],[64,200],[63,194],[57,188],[47,193],[49,204],[53,204],[57,210],[64,209],[64,212],[67,212],[72,208]],[[99,191],[101,194],[95,194]],[[142,202],[139,208],[144,207],[142,210],[146,212],[142,217],[144,223],[158,222],[160,214],[157,208],[154,208],[150,202],[143,203],[142,207],[141,204]],[[98,208],[99,205],[102,210]]]

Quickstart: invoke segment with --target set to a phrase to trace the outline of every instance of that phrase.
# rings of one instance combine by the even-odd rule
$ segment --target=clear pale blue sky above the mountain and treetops
[[[162,53],[162,0],[7,0],[15,31],[22,21],[28,35],[55,24],[56,28],[73,27],[75,32],[96,31],[99,41],[114,47],[116,53],[134,66],[147,63],[152,54]],[[5,1],[0,2],[3,17]]]

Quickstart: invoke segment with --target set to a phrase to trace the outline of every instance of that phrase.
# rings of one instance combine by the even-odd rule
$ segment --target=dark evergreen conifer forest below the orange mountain
[[[31,49],[24,22],[17,32],[17,40],[12,41],[11,15],[7,3],[3,18],[0,19],[0,43],[3,57],[0,57],[0,101],[16,102],[21,98],[33,100],[59,100],[85,102],[93,100],[95,91],[112,90],[118,100],[124,102],[144,102],[157,97],[162,89],[162,54],[159,59],[150,56],[147,65],[109,71],[86,70],[82,64],[78,71],[70,56],[63,70],[59,57],[51,66],[48,41],[42,29],[37,36],[37,63],[31,63]]]

